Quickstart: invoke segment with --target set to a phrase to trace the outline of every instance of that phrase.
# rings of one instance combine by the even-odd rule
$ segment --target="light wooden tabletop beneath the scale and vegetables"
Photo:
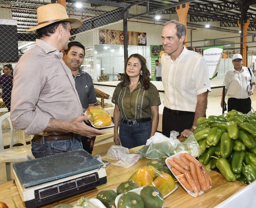
[[[140,148],[141,146],[130,149],[129,153],[136,153],[136,151],[139,150]],[[44,207],[50,208],[59,203],[74,204],[82,196],[86,198],[96,198],[97,194],[101,190],[114,189],[121,182],[128,180],[129,177],[135,171],[137,171],[141,167],[144,167],[148,161],[149,161],[148,159],[139,160],[135,165],[133,165],[128,169],[114,166],[111,164],[110,166],[106,167],[106,172],[107,172],[106,184],[98,186],[97,188],[91,191],[64,199],[60,202],[53,203]],[[110,161],[110,162],[115,162],[115,161]],[[213,187],[209,189],[207,192],[203,193],[199,197],[192,197],[178,183],[178,189],[174,191],[171,195],[165,198],[164,206],[170,207],[170,208],[171,207],[172,208],[214,207],[246,186],[246,184],[239,181],[227,182],[220,173],[217,173],[215,171],[210,171],[209,174],[213,181]],[[18,189],[16,185],[13,183],[13,181],[8,181],[6,183],[0,184],[0,201],[5,202],[7,206],[11,208],[11,207],[14,207],[13,200],[15,201],[18,208],[25,207],[25,204],[21,201]]]

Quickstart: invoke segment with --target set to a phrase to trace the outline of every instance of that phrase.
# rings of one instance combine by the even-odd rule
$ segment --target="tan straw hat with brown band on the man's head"
[[[82,25],[81,20],[77,18],[69,18],[64,6],[61,4],[46,4],[37,8],[38,25],[34,28],[30,28],[27,32],[34,31],[60,21],[70,22],[71,28],[78,28]]]

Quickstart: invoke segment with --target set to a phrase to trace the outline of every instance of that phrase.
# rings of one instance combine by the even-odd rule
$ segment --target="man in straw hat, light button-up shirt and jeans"
[[[16,64],[11,100],[11,120],[15,128],[35,134],[31,141],[35,158],[82,149],[80,136],[105,134],[86,125],[70,69],[62,60],[70,29],[82,22],[68,18],[60,4],[37,9],[39,39]]]

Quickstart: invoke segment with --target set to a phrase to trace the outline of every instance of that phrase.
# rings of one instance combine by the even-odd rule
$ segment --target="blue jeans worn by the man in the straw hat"
[[[40,142],[31,140],[31,151],[35,158],[42,158],[50,155],[56,155],[71,150],[82,149],[80,139],[66,139],[58,141],[44,141]]]

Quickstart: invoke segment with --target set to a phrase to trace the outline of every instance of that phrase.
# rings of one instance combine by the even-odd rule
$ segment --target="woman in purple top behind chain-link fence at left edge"
[[[2,99],[8,111],[11,109],[11,93],[13,82],[13,68],[11,64],[4,65],[4,74],[0,77],[0,85],[3,91]]]

